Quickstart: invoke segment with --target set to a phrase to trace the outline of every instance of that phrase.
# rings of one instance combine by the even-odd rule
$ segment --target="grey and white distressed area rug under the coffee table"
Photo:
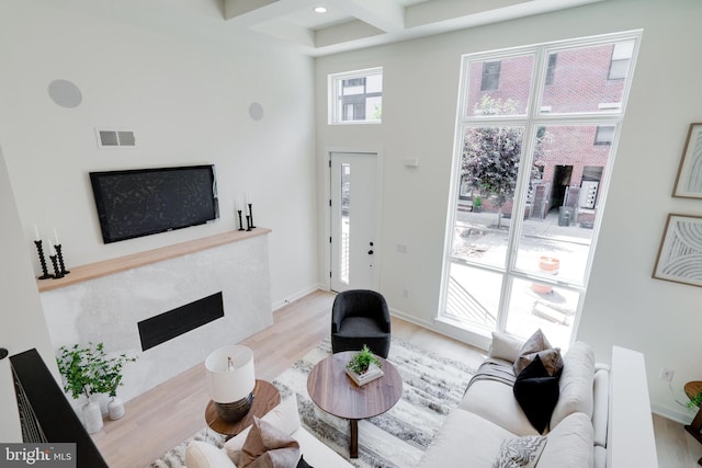
[[[321,411],[307,395],[309,370],[330,353],[330,341],[325,339],[273,384],[283,399],[292,393],[297,396],[299,415],[305,427],[348,459],[349,422]],[[461,362],[397,339],[393,339],[387,358],[403,377],[403,397],[386,413],[359,422],[359,458],[350,460],[359,468],[417,466],[446,414],[463,398],[468,381],[475,374],[475,369]],[[224,440],[206,427],[192,438],[207,440],[217,446],[222,446]],[[155,460],[151,467],[183,467],[188,442],[190,440]]]

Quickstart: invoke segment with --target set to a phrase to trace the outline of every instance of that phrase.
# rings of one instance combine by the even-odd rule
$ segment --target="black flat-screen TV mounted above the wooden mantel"
[[[218,218],[215,167],[91,172],[105,243],[202,225]]]

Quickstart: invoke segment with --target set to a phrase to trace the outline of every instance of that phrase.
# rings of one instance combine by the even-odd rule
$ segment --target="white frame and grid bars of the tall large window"
[[[635,39],[634,53],[631,62],[631,68],[629,76],[625,78],[627,80],[632,79],[633,70],[635,67],[635,57],[637,55],[638,45],[641,43],[642,31],[630,31],[616,34],[608,34],[595,37],[585,37],[578,39],[569,39],[569,41],[561,41],[553,43],[543,43],[536,44],[532,46],[524,47],[514,47],[510,49],[501,49],[501,50],[492,50],[486,53],[477,53],[477,54],[467,54],[462,57],[462,66],[461,66],[461,79],[460,79],[460,95],[458,95],[458,111],[456,115],[456,126],[455,126],[455,137],[454,137],[454,158],[452,163],[452,174],[451,174],[451,199],[449,202],[449,213],[448,213],[448,225],[445,230],[445,239],[444,239],[444,254],[443,254],[443,267],[442,267],[442,281],[441,281],[441,294],[439,300],[439,310],[437,312],[435,322],[438,328],[442,329],[450,335],[458,338],[463,341],[466,341],[476,346],[485,347],[489,345],[489,331],[488,330],[468,330],[462,327],[461,323],[456,323],[453,319],[445,317],[444,310],[446,310],[446,301],[448,301],[448,282],[449,282],[449,273],[450,266],[452,262],[465,263],[463,260],[458,260],[453,258],[452,255],[452,242],[454,236],[454,226],[456,222],[456,212],[457,205],[460,202],[460,161],[463,155],[463,135],[466,127],[475,126],[475,125],[521,125],[525,128],[524,135],[529,135],[529,140],[525,140],[523,145],[523,164],[530,164],[531,158],[533,153],[533,135],[540,126],[547,125],[558,125],[558,124],[567,124],[567,125],[602,125],[602,126],[614,126],[615,132],[613,135],[613,141],[611,146],[611,153],[608,161],[608,168],[605,168],[605,173],[608,174],[605,179],[609,179],[609,174],[611,173],[611,169],[616,155],[616,142],[619,140],[619,128],[624,118],[624,110],[626,107],[626,102],[629,100],[629,92],[631,91],[631,84],[624,88],[624,94],[622,95],[621,105],[616,109],[604,109],[599,112],[581,112],[574,114],[550,114],[544,109],[537,109],[535,103],[532,100],[539,99],[539,90],[544,89],[544,82],[547,73],[547,64],[548,56],[551,54],[557,53],[561,49],[567,49],[573,47],[587,47],[593,46],[603,43],[611,43],[616,41],[625,41],[625,39]],[[528,102],[528,114],[526,115],[473,115],[469,112],[466,112],[466,103],[468,99],[468,68],[471,62],[479,62],[479,61],[492,61],[500,60],[505,58],[509,58],[512,56],[521,56],[529,53],[533,53],[535,56],[535,67],[534,67],[534,77],[532,78],[532,89],[529,94]],[[550,110],[548,110],[550,111]],[[600,198],[604,201],[607,198],[607,186],[609,185],[609,181],[603,181],[604,183],[601,185],[603,189],[600,191]],[[514,194],[514,210],[516,213],[522,213],[525,206],[525,185],[526,185],[526,176],[524,173],[520,172],[520,175],[517,181],[517,191]],[[600,206],[603,208],[603,206]],[[582,303],[585,299],[585,293],[587,292],[587,283],[590,276],[591,262],[593,258],[595,249],[597,248],[598,233],[601,225],[603,209],[599,209],[597,213],[596,220],[596,229],[592,236],[592,250],[589,254],[589,259],[587,261],[587,266],[585,271],[585,281],[582,283],[561,283],[558,282],[558,287],[570,289],[578,292],[580,294],[580,300],[578,301],[575,320],[573,322],[573,333],[570,340],[573,341],[577,334],[577,328],[580,319],[580,312],[582,309]],[[508,243],[508,250],[514,249],[516,238],[521,230],[521,220],[519,217],[516,218],[514,228],[510,230],[510,241]],[[503,332],[506,329],[506,318],[507,318],[507,308],[509,306],[509,298],[511,295],[511,284],[513,278],[520,279],[539,279],[537,277],[532,277],[529,272],[520,271],[514,265],[516,253],[511,253],[508,258],[506,267],[492,267],[489,265],[480,265],[480,264],[471,264],[473,267],[477,267],[479,270],[485,271],[494,271],[496,273],[503,274],[507,279],[503,281],[503,286],[500,292],[499,298],[499,315],[497,320],[496,330],[498,332]],[[511,279],[510,279],[511,278]]]

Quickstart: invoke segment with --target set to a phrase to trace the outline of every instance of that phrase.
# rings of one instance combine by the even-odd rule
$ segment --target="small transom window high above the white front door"
[[[329,76],[329,124],[381,123],[383,69]]]

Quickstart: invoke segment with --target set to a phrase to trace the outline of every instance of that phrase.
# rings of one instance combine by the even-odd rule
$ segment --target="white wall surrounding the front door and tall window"
[[[702,202],[670,197],[688,126],[702,119],[700,18],[702,2],[695,0],[609,0],[317,59],[319,167],[325,147],[384,150],[380,288],[389,306],[437,328],[461,55],[644,28],[578,339],[592,343],[601,361],[610,359],[612,344],[644,353],[654,409],[691,419],[658,373],[664,366],[676,370],[678,398],[686,381],[702,378],[702,289],[650,275],[666,215],[702,215]],[[378,66],[383,124],[328,126],[327,75]],[[406,168],[406,157],[419,158],[419,168]],[[324,213],[322,203],[318,208]],[[396,251],[398,243],[407,253]]]

